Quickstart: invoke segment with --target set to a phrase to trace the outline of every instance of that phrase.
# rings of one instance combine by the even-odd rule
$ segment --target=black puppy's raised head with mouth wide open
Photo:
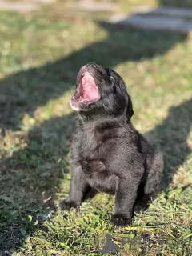
[[[79,70],[77,87],[70,100],[72,109],[81,113],[120,115],[127,118],[134,114],[125,82],[114,72],[88,63]]]

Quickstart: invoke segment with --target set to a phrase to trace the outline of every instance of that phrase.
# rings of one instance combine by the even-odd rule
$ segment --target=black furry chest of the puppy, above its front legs
[[[116,177],[110,168],[111,143],[103,133],[82,133],[79,148],[82,170],[90,186],[114,193]]]

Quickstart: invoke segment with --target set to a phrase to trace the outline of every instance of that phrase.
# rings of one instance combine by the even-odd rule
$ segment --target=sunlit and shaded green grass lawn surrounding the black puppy
[[[64,13],[62,3],[49,8],[0,14],[0,254],[99,255],[109,233],[121,248],[114,255],[192,254],[190,38],[111,27],[103,14]],[[106,194],[80,211],[55,210],[70,186],[68,102],[90,61],[122,75],[134,126],[165,159],[162,194],[121,230],[110,226]]]

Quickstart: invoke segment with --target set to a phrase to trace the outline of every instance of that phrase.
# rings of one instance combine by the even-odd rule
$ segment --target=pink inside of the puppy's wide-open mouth
[[[99,98],[98,86],[89,72],[82,74],[82,79],[78,85],[78,93],[74,96],[77,102],[94,102]]]

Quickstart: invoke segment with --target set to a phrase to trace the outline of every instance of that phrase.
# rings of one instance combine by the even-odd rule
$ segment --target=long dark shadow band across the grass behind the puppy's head
[[[131,30],[98,22],[107,38],[85,46],[57,62],[22,70],[0,80],[0,123],[2,130],[19,130],[23,113],[34,114],[38,106],[73,88],[78,70],[86,62],[113,68],[119,63],[153,58],[184,42],[187,34]]]

